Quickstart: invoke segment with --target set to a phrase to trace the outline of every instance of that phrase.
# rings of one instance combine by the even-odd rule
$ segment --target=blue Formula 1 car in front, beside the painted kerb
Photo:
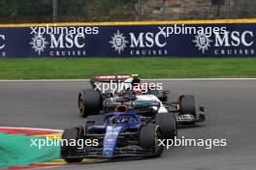
[[[159,108],[160,103],[142,105],[148,106]],[[84,126],[65,129],[62,141],[76,144],[62,145],[61,156],[67,162],[80,162],[84,157],[161,156],[164,147],[159,145],[159,139],[175,136],[175,114],[142,117],[135,109],[119,105],[115,112],[88,116]]]

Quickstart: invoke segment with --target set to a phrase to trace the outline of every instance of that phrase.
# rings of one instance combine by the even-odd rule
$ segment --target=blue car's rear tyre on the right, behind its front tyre
[[[155,123],[162,129],[164,139],[174,139],[177,135],[176,115],[173,113],[159,113]]]

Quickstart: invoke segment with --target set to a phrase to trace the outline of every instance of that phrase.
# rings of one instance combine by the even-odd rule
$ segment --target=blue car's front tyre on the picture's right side
[[[147,150],[152,150],[152,156],[161,156],[164,146],[159,146],[159,140],[163,139],[162,131],[155,124],[148,124],[140,129],[140,146]]]

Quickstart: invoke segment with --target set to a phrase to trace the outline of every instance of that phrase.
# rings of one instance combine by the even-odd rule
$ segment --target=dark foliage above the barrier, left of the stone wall
[[[137,0],[57,0],[57,21],[134,20]],[[0,22],[51,22],[52,0],[0,0]]]

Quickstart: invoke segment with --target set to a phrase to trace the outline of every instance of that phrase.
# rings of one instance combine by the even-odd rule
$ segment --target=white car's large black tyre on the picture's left
[[[101,109],[101,96],[100,93],[88,89],[82,90],[79,94],[79,110],[82,117],[87,117],[89,115],[97,115]]]

